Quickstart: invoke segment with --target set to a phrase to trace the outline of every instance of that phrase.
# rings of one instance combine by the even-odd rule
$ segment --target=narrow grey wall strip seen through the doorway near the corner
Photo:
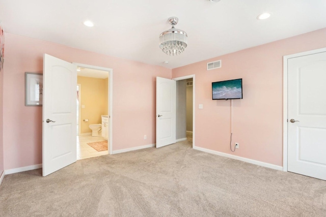
[[[176,81],[176,139],[186,138],[186,84]]]

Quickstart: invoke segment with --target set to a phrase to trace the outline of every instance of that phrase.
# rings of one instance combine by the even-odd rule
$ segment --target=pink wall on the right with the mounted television
[[[173,78],[195,74],[195,144],[282,166],[283,56],[326,47],[326,28],[300,36],[241,50],[172,70]],[[222,59],[222,68],[206,71],[210,61]],[[211,82],[243,78],[243,99],[211,100]],[[198,109],[203,104],[203,109]]]

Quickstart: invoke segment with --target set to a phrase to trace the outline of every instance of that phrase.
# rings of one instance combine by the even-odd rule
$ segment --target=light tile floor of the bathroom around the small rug
[[[108,154],[108,151],[97,151],[87,143],[99,142],[105,140],[101,136],[77,136],[77,160],[98,157],[104,154]]]

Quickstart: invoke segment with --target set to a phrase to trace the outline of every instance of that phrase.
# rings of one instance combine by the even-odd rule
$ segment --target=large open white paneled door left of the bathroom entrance
[[[43,176],[76,162],[76,66],[44,54]]]

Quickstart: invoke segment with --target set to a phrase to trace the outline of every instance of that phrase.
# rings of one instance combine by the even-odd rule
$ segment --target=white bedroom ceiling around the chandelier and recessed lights
[[[266,11],[269,19],[256,19]],[[171,16],[188,35],[179,56],[158,47]],[[324,28],[326,1],[0,0],[0,21],[7,33],[173,69]]]

